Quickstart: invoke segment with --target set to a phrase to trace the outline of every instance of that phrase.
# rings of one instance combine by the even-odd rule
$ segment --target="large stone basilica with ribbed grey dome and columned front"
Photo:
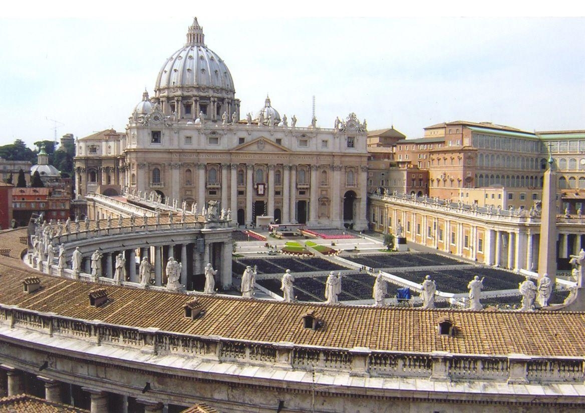
[[[271,106],[240,119],[229,69],[197,19],[168,58],[154,96],[143,93],[125,133],[77,141],[77,195],[156,192],[189,206],[214,200],[240,225],[352,227],[366,223],[366,124],[350,113],[333,129],[297,126]],[[96,141],[96,139],[98,141]]]

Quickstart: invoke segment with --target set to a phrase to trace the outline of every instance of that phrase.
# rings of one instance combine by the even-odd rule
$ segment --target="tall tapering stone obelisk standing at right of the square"
[[[538,253],[538,276],[547,273],[552,285],[556,282],[556,171],[549,157],[542,185],[541,237]]]

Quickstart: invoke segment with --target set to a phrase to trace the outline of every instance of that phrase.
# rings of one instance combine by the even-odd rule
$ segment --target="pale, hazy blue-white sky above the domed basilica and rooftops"
[[[242,118],[269,95],[305,126],[315,96],[320,127],[354,112],[369,130],[394,126],[409,138],[453,120],[585,129],[583,5],[80,3],[0,12],[0,144],[32,146],[55,128],[57,139],[125,130],[194,16],[228,65]]]

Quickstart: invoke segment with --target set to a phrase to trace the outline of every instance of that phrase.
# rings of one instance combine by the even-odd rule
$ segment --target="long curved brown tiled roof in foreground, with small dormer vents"
[[[22,280],[41,278],[42,289],[22,291]],[[164,331],[259,342],[292,342],[335,348],[367,347],[399,352],[471,353],[536,356],[583,356],[585,313],[464,310],[418,310],[366,306],[327,306],[283,303],[200,294],[205,313],[185,317],[184,306],[193,299],[180,293],[107,286],[108,303],[92,307],[88,293],[95,284],[41,275],[24,263],[0,256],[0,303],[67,317],[156,327]],[[302,316],[316,311],[322,328],[302,327]],[[448,317],[453,337],[440,336],[438,320]]]

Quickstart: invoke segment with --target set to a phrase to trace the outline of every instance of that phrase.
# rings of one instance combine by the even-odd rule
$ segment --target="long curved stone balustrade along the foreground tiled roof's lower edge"
[[[0,304],[0,325],[154,355],[197,356],[219,362],[274,366],[284,370],[508,383],[585,380],[585,358],[402,353],[367,348],[315,348],[288,342],[249,342],[219,336],[180,334],[158,328],[113,325],[99,320],[79,320],[4,304]]]

